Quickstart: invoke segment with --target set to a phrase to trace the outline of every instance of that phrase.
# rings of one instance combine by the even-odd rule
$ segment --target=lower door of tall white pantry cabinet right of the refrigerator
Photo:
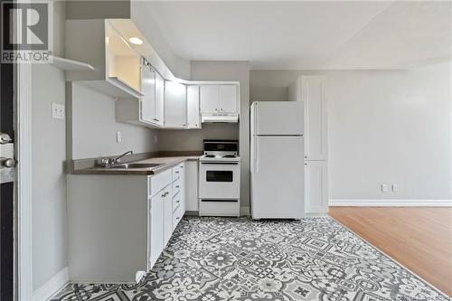
[[[306,213],[328,212],[328,173],[326,161],[305,162]]]

